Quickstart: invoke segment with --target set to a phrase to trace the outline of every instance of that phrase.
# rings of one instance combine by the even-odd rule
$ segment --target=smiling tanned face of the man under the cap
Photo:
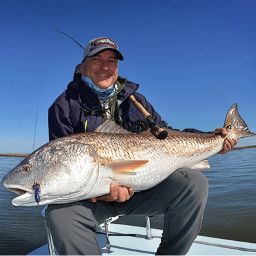
[[[103,51],[82,62],[81,74],[89,77],[95,85],[106,89],[116,83],[118,60],[114,51]]]

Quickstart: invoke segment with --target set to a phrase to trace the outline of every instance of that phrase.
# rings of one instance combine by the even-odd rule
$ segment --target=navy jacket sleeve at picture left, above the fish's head
[[[56,100],[48,112],[49,140],[74,134],[74,125],[70,119],[68,102]]]

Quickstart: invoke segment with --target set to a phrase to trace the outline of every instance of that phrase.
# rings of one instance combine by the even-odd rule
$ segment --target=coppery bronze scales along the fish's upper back
[[[181,132],[180,132],[181,133]],[[154,135],[125,135],[108,133],[85,133],[72,135],[72,138],[79,139],[93,146],[100,158],[106,161],[122,161],[148,158],[148,154],[175,155],[178,157],[191,157],[201,154],[202,151],[217,151],[224,141],[220,135],[185,133],[181,136],[169,132],[165,140],[158,140]],[[102,143],[104,141],[104,143]],[[106,141],[108,143],[106,143]],[[218,148],[218,149],[219,149]],[[211,154],[211,153],[210,153]],[[109,155],[109,157],[108,157]]]

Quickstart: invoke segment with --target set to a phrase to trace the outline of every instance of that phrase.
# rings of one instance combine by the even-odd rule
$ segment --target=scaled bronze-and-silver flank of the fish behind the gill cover
[[[158,140],[153,135],[119,135],[112,134],[108,136],[106,133],[92,133],[89,136],[85,136],[85,143],[90,144],[95,148],[97,155],[99,157],[100,165],[108,165],[115,161],[127,161],[127,160],[147,160],[147,159],[157,159],[156,165],[147,166],[146,169],[141,169],[137,171],[135,177],[127,177],[127,179],[122,178],[121,182],[117,180],[117,184],[122,184],[124,186],[133,186],[135,190],[142,190],[148,188],[148,186],[154,186],[159,184],[163,179],[169,176],[170,173],[179,169],[181,167],[192,167],[196,163],[202,161],[202,159],[208,158],[213,154],[212,149],[216,151],[216,143],[221,142],[217,140],[220,136],[216,135],[194,135],[182,133],[178,135],[171,135],[169,133],[165,140]],[[80,137],[77,135],[74,137]],[[105,137],[108,137],[106,139]],[[204,140],[203,140],[204,138]],[[207,139],[205,139],[207,138]],[[102,146],[102,141],[108,140],[108,147]],[[224,140],[224,139],[223,139]],[[184,147],[184,142],[186,142],[187,147]],[[197,144],[198,147],[194,146]],[[123,146],[122,146],[123,145]],[[201,145],[201,146],[199,146]],[[161,148],[161,150],[160,150]],[[202,151],[202,149],[204,151]],[[205,151],[205,148],[207,150]],[[111,157],[106,158],[106,152],[111,152]],[[125,152],[129,152],[130,155]],[[194,156],[194,158],[192,158]],[[168,163],[171,162],[170,166]],[[166,170],[168,169],[169,172]],[[107,171],[106,171],[107,172]],[[106,173],[102,172],[102,177]],[[148,177],[151,177],[150,181]],[[99,179],[101,181],[101,179]],[[110,179],[108,182],[113,181]],[[96,184],[96,191],[93,190],[88,197],[94,197],[97,195],[98,190],[103,191],[104,182],[101,184]],[[106,190],[104,193],[109,192],[108,186],[105,186]]]

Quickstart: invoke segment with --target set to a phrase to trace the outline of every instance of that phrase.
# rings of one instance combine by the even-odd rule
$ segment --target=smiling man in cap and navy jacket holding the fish
[[[123,55],[111,39],[89,41],[74,80],[49,108],[50,140],[94,131],[108,118],[125,129],[140,132],[147,123],[129,101],[131,95],[152,114],[155,123],[166,127],[144,96],[136,92],[139,85],[118,76],[118,60],[123,60]],[[224,128],[215,132],[226,135]],[[227,138],[221,154],[237,142]],[[207,179],[200,171],[175,171],[158,186],[142,192],[115,183],[110,191],[91,200],[49,205],[47,226],[60,255],[101,255],[96,229],[104,219],[117,215],[164,214],[163,237],[156,255],[186,254],[200,232],[208,194]]]

